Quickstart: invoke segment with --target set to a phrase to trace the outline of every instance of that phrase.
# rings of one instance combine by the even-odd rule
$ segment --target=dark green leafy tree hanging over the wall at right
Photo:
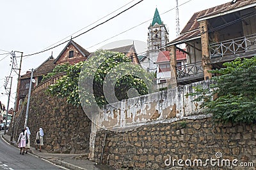
[[[198,96],[195,101],[202,101],[205,113],[212,113],[216,122],[247,122],[256,120],[256,57],[236,59],[226,62],[221,69],[211,71],[218,74],[212,78],[211,89],[195,87]],[[213,100],[213,96],[216,99]]]

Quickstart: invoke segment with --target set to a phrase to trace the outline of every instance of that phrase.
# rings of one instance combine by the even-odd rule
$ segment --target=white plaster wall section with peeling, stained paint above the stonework
[[[126,99],[115,104],[108,104],[99,113],[97,124],[104,129],[135,127],[138,124],[183,118],[200,112],[200,103],[193,102],[193,97],[186,96],[194,92],[193,87],[209,87],[209,81],[200,81],[189,85],[167,89],[154,94]]]

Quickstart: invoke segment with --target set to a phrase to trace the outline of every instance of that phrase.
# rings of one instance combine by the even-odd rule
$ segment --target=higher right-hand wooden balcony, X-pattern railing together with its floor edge
[[[253,57],[256,55],[256,34],[212,43],[209,45],[209,55],[212,64],[227,62],[237,57]]]

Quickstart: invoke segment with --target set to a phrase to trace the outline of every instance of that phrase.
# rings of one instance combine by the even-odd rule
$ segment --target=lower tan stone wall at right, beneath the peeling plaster
[[[182,167],[177,164],[179,159],[190,159],[192,163],[195,159],[202,159],[204,164],[206,159],[218,160],[216,153],[220,152],[220,162],[223,159],[237,159],[237,165],[253,162],[254,167],[250,169],[255,169],[255,145],[255,124],[222,125],[214,124],[211,118],[196,117],[195,120],[143,125],[129,132],[98,131],[95,161],[117,169],[243,169],[234,166],[211,167],[210,162],[202,167]],[[168,161],[173,162],[174,159],[175,167],[172,164],[169,166]]]

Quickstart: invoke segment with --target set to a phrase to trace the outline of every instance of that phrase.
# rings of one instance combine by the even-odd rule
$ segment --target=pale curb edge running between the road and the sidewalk
[[[1,135],[1,138],[4,139],[4,141],[6,141],[7,143],[9,143],[10,145],[15,146],[15,144],[17,144],[16,142],[11,142],[11,141],[9,141],[8,139],[6,139],[6,138],[3,136],[3,134]],[[15,147],[17,148],[17,146],[15,146]],[[69,163],[67,163],[67,162],[64,162],[64,161],[62,161],[62,160],[50,160],[50,159],[44,158],[44,157],[42,157],[41,155],[38,155],[38,154],[34,153],[32,150],[31,150],[30,153],[33,154],[33,155],[36,155],[36,157],[38,157],[38,158],[45,159],[45,160],[47,160],[47,161],[49,161],[49,162],[51,162],[52,164],[55,164],[55,165],[57,165],[57,166],[65,167],[65,168],[72,169],[72,170],[88,170],[88,169],[84,169],[84,168],[82,168],[82,167],[74,166],[74,165],[69,164]]]

